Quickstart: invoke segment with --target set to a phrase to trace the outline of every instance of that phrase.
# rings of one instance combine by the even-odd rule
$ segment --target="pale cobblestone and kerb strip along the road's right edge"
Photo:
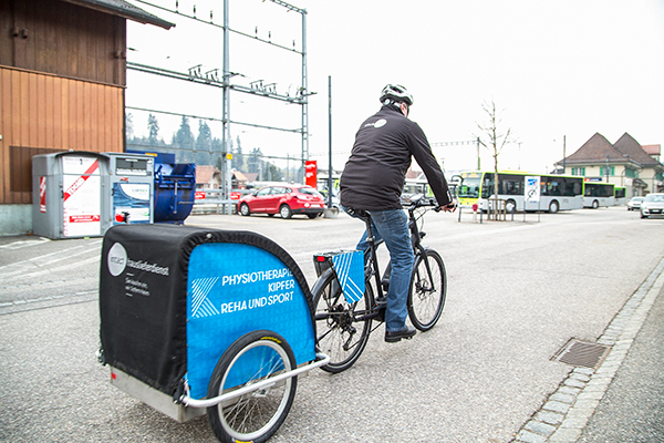
[[[596,369],[574,368],[526,422],[512,443],[575,443],[627,356],[664,287],[664,258],[613,318],[599,344],[611,347]]]

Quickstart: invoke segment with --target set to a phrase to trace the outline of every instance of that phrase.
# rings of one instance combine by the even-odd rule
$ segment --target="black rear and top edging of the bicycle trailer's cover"
[[[166,394],[175,393],[187,371],[189,256],[196,246],[209,243],[251,245],[278,257],[313,312],[301,269],[267,237],[176,225],[117,225],[104,236],[101,260],[101,344],[106,363]]]

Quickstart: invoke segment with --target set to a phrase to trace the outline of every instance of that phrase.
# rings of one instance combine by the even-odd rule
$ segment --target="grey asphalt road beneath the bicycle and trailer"
[[[187,225],[263,234],[310,285],[312,255],[362,233],[345,215]],[[425,244],[449,277],[438,324],[396,344],[381,327],[349,371],[300,378],[271,442],[511,441],[572,370],[551,358],[570,338],[596,340],[660,264],[663,228],[624,207],[483,224],[427,214]],[[215,442],[205,418],[174,422],[108,383],[95,359],[100,250],[100,238],[0,237],[0,441]]]

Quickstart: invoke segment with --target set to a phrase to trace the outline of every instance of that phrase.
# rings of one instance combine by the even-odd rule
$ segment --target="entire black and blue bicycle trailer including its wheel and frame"
[[[312,312],[295,261],[259,234],[118,225],[104,236],[98,357],[111,383],[179,422],[207,409],[220,441],[268,440],[295,375],[329,360]]]

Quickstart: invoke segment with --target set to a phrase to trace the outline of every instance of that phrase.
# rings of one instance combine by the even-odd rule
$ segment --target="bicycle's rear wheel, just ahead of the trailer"
[[[371,333],[371,319],[366,319],[373,306],[373,290],[369,281],[364,297],[349,303],[341,292],[333,272],[325,272],[312,290],[315,306],[317,349],[330,356],[324,371],[345,371],[357,361]]]

